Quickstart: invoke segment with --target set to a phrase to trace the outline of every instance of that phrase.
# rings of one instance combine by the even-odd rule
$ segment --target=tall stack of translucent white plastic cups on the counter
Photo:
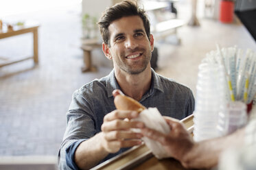
[[[199,65],[194,112],[194,140],[219,136],[218,114],[226,106],[224,67],[219,64]]]

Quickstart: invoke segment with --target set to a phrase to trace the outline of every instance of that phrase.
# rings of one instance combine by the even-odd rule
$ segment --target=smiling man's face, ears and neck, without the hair
[[[141,99],[150,88],[150,58],[153,36],[147,36],[140,16],[124,16],[108,26],[109,43],[102,45],[105,56],[113,60],[115,77],[126,95]]]

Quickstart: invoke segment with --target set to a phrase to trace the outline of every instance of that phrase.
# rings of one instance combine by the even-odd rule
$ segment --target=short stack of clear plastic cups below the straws
[[[231,134],[247,122],[246,104],[233,101],[227,104],[226,110],[219,113],[218,132],[220,136]]]

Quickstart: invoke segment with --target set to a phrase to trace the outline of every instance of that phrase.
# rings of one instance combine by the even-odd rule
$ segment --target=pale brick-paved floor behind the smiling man
[[[179,15],[189,20],[187,1],[177,5]],[[39,65],[32,61],[0,69],[0,156],[56,155],[65,131],[65,112],[76,88],[108,74],[100,64],[101,51],[93,51],[98,71],[81,73],[80,7],[49,10],[19,16],[39,21]],[[10,17],[14,18],[14,17]],[[158,73],[189,86],[196,94],[198,64],[205,53],[237,45],[256,51],[256,43],[246,29],[199,18],[200,27],[178,29],[181,45],[158,43]],[[0,40],[1,56],[30,54],[32,36]],[[102,62],[101,62],[102,63]]]

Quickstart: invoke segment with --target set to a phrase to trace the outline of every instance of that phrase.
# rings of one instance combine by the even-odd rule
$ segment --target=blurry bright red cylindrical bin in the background
[[[222,23],[233,22],[234,3],[233,1],[220,1],[220,21]]]

